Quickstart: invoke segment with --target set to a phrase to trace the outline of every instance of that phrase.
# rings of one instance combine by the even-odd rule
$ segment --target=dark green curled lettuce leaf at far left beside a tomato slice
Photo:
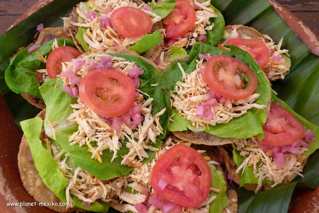
[[[27,54],[26,51],[29,48],[22,49],[17,55],[15,55],[5,70],[5,82],[8,87],[15,93],[27,93],[35,95],[41,98],[39,87],[40,83],[35,75],[35,71],[39,69],[45,69],[45,63],[38,59],[37,52],[41,56],[47,57],[52,51],[52,44],[54,40],[42,45],[38,50]],[[64,42],[66,46],[75,47],[72,39],[57,39],[58,45],[63,46]]]

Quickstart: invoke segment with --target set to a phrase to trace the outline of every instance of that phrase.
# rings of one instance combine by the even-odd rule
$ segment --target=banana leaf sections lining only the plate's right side
[[[273,83],[277,96],[294,111],[315,125],[319,125],[319,57],[311,54],[308,47],[293,33],[268,1],[264,0],[212,0],[222,12],[226,26],[242,24],[268,34],[282,47],[289,49],[292,67],[284,80]],[[248,15],[249,14],[249,15]],[[238,212],[287,212],[295,187],[316,188],[319,184],[319,150],[309,158],[304,168],[304,178],[255,194],[238,189]]]

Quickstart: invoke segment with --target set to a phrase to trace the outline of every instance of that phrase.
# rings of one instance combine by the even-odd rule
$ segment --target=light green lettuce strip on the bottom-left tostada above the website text
[[[43,183],[48,186],[62,202],[66,202],[65,189],[68,186],[68,181],[60,171],[59,165],[53,159],[51,153],[42,146],[42,142],[39,139],[42,124],[43,121],[39,117],[24,120],[20,123],[26,140],[28,141],[34,165]],[[103,202],[102,204],[93,202],[89,207],[85,207],[82,202],[73,195],[72,200],[75,203],[75,207],[95,212],[106,212],[111,205],[107,202]]]

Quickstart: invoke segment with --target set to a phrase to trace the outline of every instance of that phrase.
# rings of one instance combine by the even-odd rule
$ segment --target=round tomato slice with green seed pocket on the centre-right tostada
[[[258,84],[255,73],[240,60],[230,56],[210,57],[204,73],[207,84],[212,90],[234,100],[248,98],[254,93]]]

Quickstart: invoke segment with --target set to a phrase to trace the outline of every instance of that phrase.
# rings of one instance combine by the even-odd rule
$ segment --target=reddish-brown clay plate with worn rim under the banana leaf
[[[15,23],[31,15],[52,0],[40,0],[24,13]],[[275,1],[270,3],[282,16],[295,33],[308,45],[309,49],[319,55],[319,39],[305,26],[300,19]],[[318,26],[317,26],[318,27]],[[0,211],[11,212],[53,212],[45,207],[39,206],[8,206],[13,203],[34,203],[34,199],[24,189],[18,169],[17,156],[22,133],[16,126],[4,98],[0,95]],[[293,194],[289,213],[319,212],[319,188],[315,190],[296,190]]]

